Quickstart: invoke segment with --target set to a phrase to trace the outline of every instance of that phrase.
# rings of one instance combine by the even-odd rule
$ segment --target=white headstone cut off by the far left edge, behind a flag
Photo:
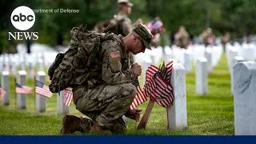
[[[2,78],[1,78],[1,86],[4,90],[6,90],[6,95],[2,99],[2,105],[8,106],[10,105],[10,82],[9,82],[9,72],[2,71]]]

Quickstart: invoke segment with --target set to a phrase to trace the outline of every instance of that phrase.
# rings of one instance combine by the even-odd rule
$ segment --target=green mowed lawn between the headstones
[[[10,78],[10,106],[0,106],[0,135],[58,135],[62,116],[57,115],[57,95],[46,99],[46,113],[34,114],[34,94],[27,95],[27,109],[15,110],[14,78]],[[49,83],[47,83],[49,85]],[[208,75],[209,94],[195,93],[195,74],[186,74],[186,130],[166,130],[166,110],[154,105],[146,130],[135,130],[138,123],[126,119],[127,135],[233,135],[234,105],[230,74],[223,54],[213,74]],[[28,86],[34,86],[27,80]],[[139,106],[143,112],[147,102]],[[70,114],[82,116],[70,106]],[[142,113],[143,114],[143,113]],[[81,134],[81,133],[75,133]]]

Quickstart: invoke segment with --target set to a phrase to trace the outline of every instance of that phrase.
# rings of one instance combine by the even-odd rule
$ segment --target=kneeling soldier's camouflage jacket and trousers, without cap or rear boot
[[[86,86],[75,87],[74,103],[82,114],[97,121],[100,126],[122,131],[126,129],[122,116],[130,109],[137,91],[131,84],[134,74],[129,67],[129,53],[125,51],[122,36],[114,37],[115,40],[102,43],[99,54],[102,62],[98,70],[91,70],[98,73],[95,81],[103,80],[105,83],[90,86],[90,89]]]

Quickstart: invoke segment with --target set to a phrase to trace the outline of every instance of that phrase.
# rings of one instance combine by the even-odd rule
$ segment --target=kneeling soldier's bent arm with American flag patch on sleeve
[[[132,70],[122,70],[120,50],[108,47],[103,54],[102,80],[109,85],[134,82]]]

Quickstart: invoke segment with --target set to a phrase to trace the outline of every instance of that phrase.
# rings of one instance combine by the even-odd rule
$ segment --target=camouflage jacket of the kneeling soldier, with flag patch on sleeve
[[[129,53],[125,51],[122,35],[110,34],[110,40],[102,42],[98,57],[94,59],[86,82],[88,88],[107,83],[115,85],[134,82],[134,74],[130,70]]]

